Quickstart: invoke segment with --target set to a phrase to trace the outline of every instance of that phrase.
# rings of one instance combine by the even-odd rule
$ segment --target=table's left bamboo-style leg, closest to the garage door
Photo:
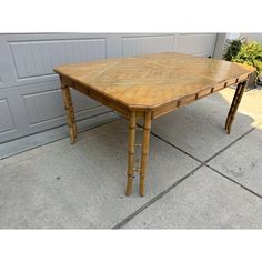
[[[62,87],[62,97],[63,97],[63,103],[64,103],[64,108],[66,108],[66,112],[68,117],[70,142],[74,143],[75,137],[77,137],[77,128],[74,123],[74,113],[73,113],[73,108],[72,108],[70,89],[68,85]]]

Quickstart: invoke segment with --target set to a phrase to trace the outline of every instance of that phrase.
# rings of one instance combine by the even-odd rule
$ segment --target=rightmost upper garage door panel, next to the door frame
[[[179,52],[199,56],[212,56],[215,43],[215,33],[181,34],[179,38]]]

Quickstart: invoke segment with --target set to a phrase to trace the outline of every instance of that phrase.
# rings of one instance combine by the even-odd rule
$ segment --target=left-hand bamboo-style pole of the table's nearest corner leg
[[[133,172],[134,172],[134,141],[135,141],[135,125],[137,117],[135,112],[130,112],[129,118],[129,138],[128,138],[128,183],[125,194],[130,195],[132,190]]]

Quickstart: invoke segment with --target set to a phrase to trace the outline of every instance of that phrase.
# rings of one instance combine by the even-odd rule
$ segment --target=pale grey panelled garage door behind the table
[[[213,54],[215,33],[0,34],[0,142],[66,123],[59,64],[153,52]],[[77,120],[110,111],[72,93]]]

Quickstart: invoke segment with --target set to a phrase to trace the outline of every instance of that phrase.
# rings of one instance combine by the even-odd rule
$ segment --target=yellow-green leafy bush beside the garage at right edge
[[[256,82],[258,77],[262,72],[262,44],[255,41],[246,41],[246,39],[242,40],[233,40],[225,54],[224,59],[226,61],[245,63],[252,66],[256,69]]]

